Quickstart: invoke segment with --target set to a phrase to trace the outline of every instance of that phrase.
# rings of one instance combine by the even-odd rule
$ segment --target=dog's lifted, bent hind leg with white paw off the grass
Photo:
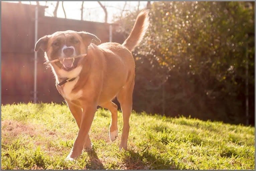
[[[114,141],[118,136],[118,129],[117,129],[117,105],[112,101],[106,102],[101,107],[108,109],[111,113],[111,125],[109,127],[109,138],[111,141]]]

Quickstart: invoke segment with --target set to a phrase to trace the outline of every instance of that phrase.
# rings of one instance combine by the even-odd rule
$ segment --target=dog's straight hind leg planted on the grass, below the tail
[[[127,150],[127,140],[130,130],[129,119],[132,111],[132,93],[134,88],[134,77],[129,81],[117,94],[117,100],[119,101],[123,113],[123,132],[121,137],[121,143],[119,149],[124,148]]]

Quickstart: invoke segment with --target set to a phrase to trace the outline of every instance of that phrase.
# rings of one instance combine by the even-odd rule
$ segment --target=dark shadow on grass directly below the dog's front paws
[[[94,149],[88,150],[87,154],[89,156],[89,162],[86,164],[87,169],[105,170],[105,167],[103,166]]]

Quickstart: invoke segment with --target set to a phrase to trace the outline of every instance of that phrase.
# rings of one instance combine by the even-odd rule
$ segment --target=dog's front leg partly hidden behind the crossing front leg
[[[80,129],[80,125],[81,125],[81,117],[82,117],[82,108],[74,105],[72,102],[66,100],[68,107],[72,113],[72,115],[74,116],[76,122],[77,122],[77,126]],[[85,143],[84,143],[84,149],[90,150],[92,149],[92,142],[89,136],[89,133],[85,139]]]

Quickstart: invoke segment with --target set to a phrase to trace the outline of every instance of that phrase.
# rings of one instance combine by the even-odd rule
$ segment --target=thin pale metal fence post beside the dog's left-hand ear
[[[38,27],[38,5],[35,6],[35,43],[37,41],[37,27]],[[37,76],[37,52],[34,52],[34,103],[37,102],[36,76]]]

